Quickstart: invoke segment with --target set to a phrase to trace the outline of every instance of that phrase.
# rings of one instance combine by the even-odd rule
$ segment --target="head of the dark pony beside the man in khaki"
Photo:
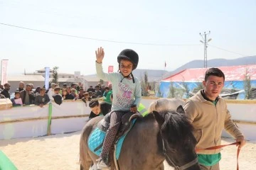
[[[178,111],[153,111],[159,123],[159,147],[169,165],[175,169],[200,169],[195,151],[196,138],[193,136],[193,126],[187,120],[182,107]],[[178,113],[179,112],[179,113]]]

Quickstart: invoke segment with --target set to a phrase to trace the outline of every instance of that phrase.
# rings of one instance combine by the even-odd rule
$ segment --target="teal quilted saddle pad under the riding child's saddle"
[[[132,120],[132,126],[134,125],[135,121],[136,121],[136,119]],[[132,128],[130,128],[129,130],[131,130],[131,129]],[[127,133],[122,135],[122,137],[120,137],[119,140],[117,141],[117,149],[116,149],[116,153],[115,153],[117,160],[119,158],[122,144],[124,142],[124,138],[126,137]],[[94,151],[94,150],[97,147],[99,147],[100,145],[102,145],[102,143],[105,139],[105,136],[106,136],[106,132],[103,132],[99,128],[95,128],[95,130],[92,131],[92,133],[90,134],[89,139],[88,139],[88,147],[89,147],[90,151],[95,153],[99,157],[100,157],[100,153],[102,152],[102,147],[100,147],[100,149],[97,149],[97,151]]]

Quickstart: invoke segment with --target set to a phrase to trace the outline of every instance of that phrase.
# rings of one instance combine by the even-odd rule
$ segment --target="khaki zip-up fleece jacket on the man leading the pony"
[[[196,148],[204,149],[220,145],[221,133],[224,128],[235,138],[242,136],[238,127],[231,120],[225,100],[219,97],[215,106],[214,103],[203,98],[201,91],[198,91],[184,104],[185,114],[193,125],[193,135],[198,142]],[[213,149],[201,150],[197,153],[218,154],[219,152],[220,149]]]

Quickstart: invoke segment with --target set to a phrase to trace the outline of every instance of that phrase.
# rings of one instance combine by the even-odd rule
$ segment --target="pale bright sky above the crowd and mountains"
[[[97,47],[105,49],[105,72],[130,48],[138,69],[172,71],[203,60],[199,33],[209,31],[208,60],[252,56],[255,8],[255,0],[0,0],[0,60],[9,60],[9,75],[55,66],[87,75],[96,72]]]

